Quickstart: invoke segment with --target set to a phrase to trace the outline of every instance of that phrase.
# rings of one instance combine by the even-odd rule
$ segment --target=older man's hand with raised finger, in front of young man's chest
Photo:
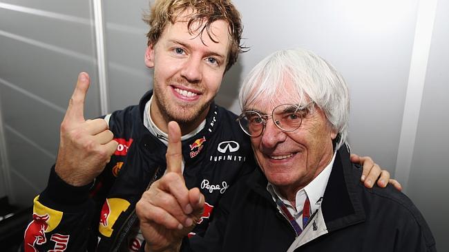
[[[195,227],[204,209],[200,190],[187,189],[182,177],[181,145],[180,127],[170,122],[166,174],[136,204],[146,251],[179,251],[182,238]]]

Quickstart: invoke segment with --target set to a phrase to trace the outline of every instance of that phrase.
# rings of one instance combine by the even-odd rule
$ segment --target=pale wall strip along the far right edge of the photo
[[[449,10],[439,0],[407,193],[428,220],[438,251],[449,251]]]

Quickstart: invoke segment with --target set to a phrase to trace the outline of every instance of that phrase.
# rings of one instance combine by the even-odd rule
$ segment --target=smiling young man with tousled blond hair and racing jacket
[[[191,235],[204,233],[223,193],[254,169],[237,116],[213,103],[242,49],[236,8],[228,0],[156,1],[146,21],[145,63],[154,70],[154,90],[139,105],[85,120],[89,79],[79,74],[48,187],[35,198],[26,251],[139,249],[135,204],[165,172],[170,120],[182,132],[185,185],[200,188],[207,203]],[[365,164],[367,171],[373,166],[372,160]],[[380,169],[372,170],[375,181]],[[383,175],[386,185],[389,175]]]

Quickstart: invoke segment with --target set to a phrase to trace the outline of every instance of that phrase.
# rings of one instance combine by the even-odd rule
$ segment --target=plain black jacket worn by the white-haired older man
[[[365,188],[361,167],[337,151],[321,207],[296,238],[256,169],[222,198],[204,238],[184,251],[436,251],[432,233],[407,196],[391,185]],[[298,249],[296,249],[298,248]],[[296,249],[296,250],[295,250]]]

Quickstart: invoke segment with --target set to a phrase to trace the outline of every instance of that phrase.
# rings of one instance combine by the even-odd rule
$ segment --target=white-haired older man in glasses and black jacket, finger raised
[[[229,189],[204,238],[191,238],[181,250],[435,251],[410,199],[392,187],[360,185],[361,167],[350,162],[345,143],[349,92],[332,65],[302,49],[271,54],[246,78],[240,104],[238,120],[259,169]],[[169,150],[174,163],[175,145]],[[189,202],[200,209],[204,200],[192,191]],[[178,204],[162,207],[173,209],[170,203]],[[180,249],[176,232],[187,230],[163,229],[159,220],[140,216],[142,229],[157,233],[146,236],[149,251]]]

